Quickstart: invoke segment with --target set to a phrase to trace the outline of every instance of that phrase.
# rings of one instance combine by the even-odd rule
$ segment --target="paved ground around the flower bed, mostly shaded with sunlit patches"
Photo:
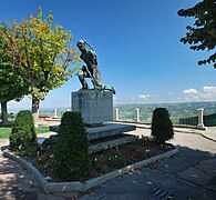
[[[151,164],[141,171],[113,179],[89,193],[49,194],[40,190],[31,174],[0,152],[0,199],[215,199],[216,142],[195,132],[177,130],[172,143],[179,154]],[[195,131],[195,130],[191,130]],[[150,136],[150,129],[134,133]],[[49,133],[50,134],[50,133]],[[49,134],[40,134],[48,137]],[[206,134],[216,134],[209,129]],[[0,140],[0,147],[8,140]]]

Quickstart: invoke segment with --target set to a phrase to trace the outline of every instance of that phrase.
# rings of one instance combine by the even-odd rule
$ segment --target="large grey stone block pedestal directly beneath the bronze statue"
[[[81,90],[71,94],[71,110],[81,112],[89,126],[113,121],[113,94],[103,90]]]

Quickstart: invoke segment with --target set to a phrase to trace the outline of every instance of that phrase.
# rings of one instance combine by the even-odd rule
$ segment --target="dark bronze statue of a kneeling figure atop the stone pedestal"
[[[90,49],[86,49],[86,44],[90,47]],[[86,66],[83,66],[82,69],[78,72],[82,89],[89,89],[85,78],[90,78],[94,89],[110,90],[115,94],[115,90],[113,87],[101,84],[101,74],[97,66],[97,58],[93,47],[90,46],[85,40],[79,40],[76,46],[81,51],[80,58],[86,63]]]

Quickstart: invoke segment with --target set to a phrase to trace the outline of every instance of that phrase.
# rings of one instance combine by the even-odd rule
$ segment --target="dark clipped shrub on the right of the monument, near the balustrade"
[[[156,108],[153,111],[151,134],[160,144],[164,144],[167,140],[173,138],[173,123],[169,119],[168,111],[165,108]]]

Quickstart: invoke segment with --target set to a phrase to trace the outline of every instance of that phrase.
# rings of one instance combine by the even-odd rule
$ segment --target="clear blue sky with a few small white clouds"
[[[177,11],[197,0],[10,0],[2,1],[0,20],[10,22],[49,10],[54,23],[73,34],[75,46],[86,39],[95,49],[102,83],[113,86],[114,103],[215,101],[216,71],[199,67],[208,56],[179,42],[193,19]],[[72,66],[71,66],[72,67]],[[50,91],[42,108],[70,108],[71,92],[81,88],[76,77]],[[10,102],[10,108],[30,108],[31,100]]]

